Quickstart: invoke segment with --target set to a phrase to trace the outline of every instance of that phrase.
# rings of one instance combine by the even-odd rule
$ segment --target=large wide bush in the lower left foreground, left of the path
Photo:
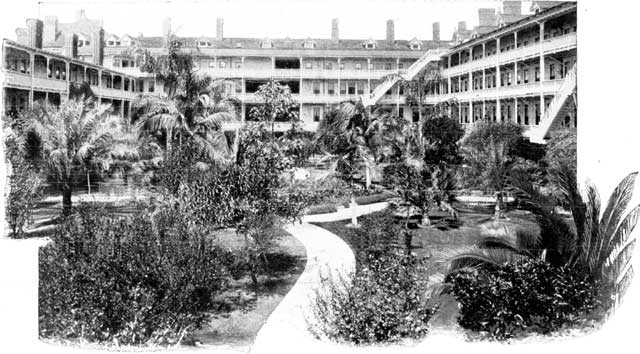
[[[41,337],[174,344],[219,308],[235,259],[204,230],[170,210],[78,210],[40,250]]]

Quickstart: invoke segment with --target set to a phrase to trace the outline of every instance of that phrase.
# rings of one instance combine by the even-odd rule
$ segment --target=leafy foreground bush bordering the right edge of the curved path
[[[355,344],[423,337],[436,310],[427,305],[425,270],[422,260],[397,250],[370,252],[351,282],[325,280],[311,330]]]

